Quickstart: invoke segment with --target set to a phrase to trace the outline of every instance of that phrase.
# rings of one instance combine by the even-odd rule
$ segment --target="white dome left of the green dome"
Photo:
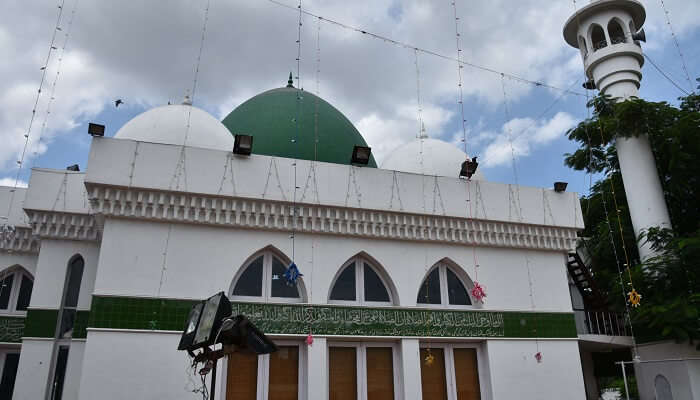
[[[187,118],[190,112],[192,115],[189,116],[188,132]],[[114,137],[214,150],[233,149],[233,135],[224,124],[206,111],[184,104],[156,107],[139,114],[124,124]]]

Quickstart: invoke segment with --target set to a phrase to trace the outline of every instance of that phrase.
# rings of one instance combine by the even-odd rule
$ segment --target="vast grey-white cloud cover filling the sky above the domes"
[[[67,0],[63,28],[75,0]],[[281,0],[296,7],[293,0]],[[309,0],[304,7],[327,18],[412,45],[454,56],[454,19],[449,2],[422,0],[348,2]],[[205,1],[80,1],[55,102],[44,131],[28,156],[76,124],[101,112],[115,98],[145,107],[178,101],[193,85]],[[667,0],[681,39],[700,24],[699,2]],[[660,7],[648,4],[648,26],[665,25]],[[578,52],[561,28],[572,13],[569,2],[550,0],[458,1],[463,58],[533,80],[568,87],[582,76]],[[296,69],[297,13],[271,2],[212,2],[195,104],[223,117],[249,96],[285,84]],[[0,171],[14,165],[24,144],[42,66],[56,19],[51,0],[9,2],[0,15]],[[303,86],[315,91],[315,18],[302,27]],[[57,35],[63,44],[67,29]],[[653,36],[664,40],[668,35]],[[355,122],[381,158],[415,137],[416,73],[411,49],[393,46],[329,23],[321,24],[321,96]],[[56,76],[60,52],[47,70],[44,94]],[[457,66],[419,54],[421,97],[428,134],[450,138],[459,114]],[[469,121],[502,102],[500,76],[465,67],[464,96]],[[507,81],[509,100],[549,90]],[[576,87],[578,89],[578,87]],[[37,107],[32,137],[41,131],[48,96]],[[474,107],[479,105],[479,107]],[[432,111],[431,111],[432,107]],[[452,108],[454,107],[454,108]],[[435,112],[436,114],[431,114]],[[475,128],[472,128],[476,130]],[[449,131],[446,131],[449,130]],[[479,130],[480,131],[480,130]],[[480,134],[483,135],[483,132]],[[493,140],[484,136],[479,140]],[[523,151],[524,148],[523,148]]]

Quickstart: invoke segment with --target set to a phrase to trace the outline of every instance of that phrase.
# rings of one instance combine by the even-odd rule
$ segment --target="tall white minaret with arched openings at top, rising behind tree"
[[[566,21],[564,39],[581,51],[589,88],[595,85],[618,101],[638,97],[645,18],[637,0],[594,0]],[[616,147],[635,235],[651,226],[670,228],[648,137],[618,137]],[[648,244],[638,247],[643,260],[653,253]]]

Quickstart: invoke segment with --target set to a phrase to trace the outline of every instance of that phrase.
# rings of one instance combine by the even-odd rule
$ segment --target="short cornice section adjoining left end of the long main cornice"
[[[24,212],[29,217],[33,234],[40,238],[88,241],[100,239],[95,217],[90,214],[30,209],[25,209]]]

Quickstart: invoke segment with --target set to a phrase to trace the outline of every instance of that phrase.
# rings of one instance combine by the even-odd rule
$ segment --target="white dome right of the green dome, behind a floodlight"
[[[421,147],[423,165],[421,165]],[[459,170],[466,160],[463,151],[456,146],[437,139],[417,139],[406,143],[389,154],[382,169],[410,172],[431,176],[459,177]],[[477,169],[472,179],[485,180]]]

